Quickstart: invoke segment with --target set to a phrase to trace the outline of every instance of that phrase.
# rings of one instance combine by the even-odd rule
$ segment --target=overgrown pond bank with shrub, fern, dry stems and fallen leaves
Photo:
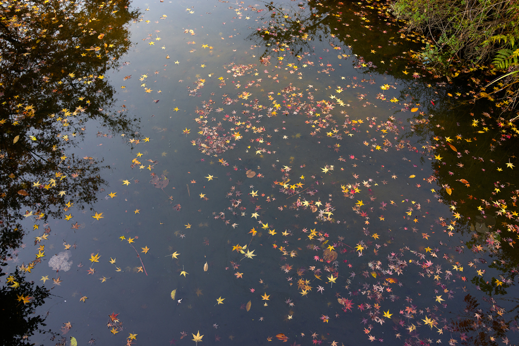
[[[415,55],[427,68],[443,70],[451,78],[463,70],[463,65],[483,67],[495,75],[491,83],[483,85],[486,88],[479,90],[479,97],[496,102],[503,112],[515,110],[519,102],[519,1],[365,0],[364,3],[399,20],[403,30],[431,38]]]

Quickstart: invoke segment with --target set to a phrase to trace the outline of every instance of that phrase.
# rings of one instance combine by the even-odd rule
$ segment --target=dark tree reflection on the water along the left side
[[[131,46],[129,24],[139,11],[129,1],[45,0],[0,3],[0,276],[24,235],[35,231],[35,243],[63,218],[72,205],[97,201],[105,180],[102,159],[77,157],[86,123],[106,131],[131,133],[139,121],[127,110],[113,110],[115,90],[105,73],[124,62]],[[24,212],[25,211],[25,212]],[[32,217],[32,230],[21,220]],[[36,233],[37,232],[37,233]],[[39,255],[7,278],[0,289],[4,345],[28,344],[42,332],[45,317],[35,308],[49,296],[46,288],[25,281]],[[32,316],[31,316],[32,315]]]

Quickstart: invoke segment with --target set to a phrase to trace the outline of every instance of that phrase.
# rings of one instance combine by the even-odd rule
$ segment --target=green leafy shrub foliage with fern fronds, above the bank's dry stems
[[[519,39],[519,6],[514,2],[395,0],[391,12],[408,30],[434,38],[435,49],[426,54],[444,68],[461,58],[488,63],[496,52],[513,47]]]

